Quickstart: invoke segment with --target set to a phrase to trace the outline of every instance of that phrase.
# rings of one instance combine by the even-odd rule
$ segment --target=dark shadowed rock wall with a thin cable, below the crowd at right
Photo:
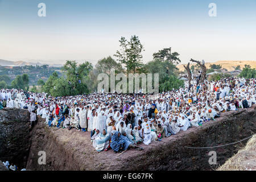
[[[127,160],[120,169],[127,170],[213,170],[237,153],[247,140],[225,147],[191,149],[188,147],[220,146],[237,142],[256,132],[256,107],[222,114],[217,121],[205,123],[195,131],[180,133],[178,138],[152,148],[137,160]],[[216,151],[217,164],[210,165],[209,151]],[[143,163],[139,162],[143,161]]]

